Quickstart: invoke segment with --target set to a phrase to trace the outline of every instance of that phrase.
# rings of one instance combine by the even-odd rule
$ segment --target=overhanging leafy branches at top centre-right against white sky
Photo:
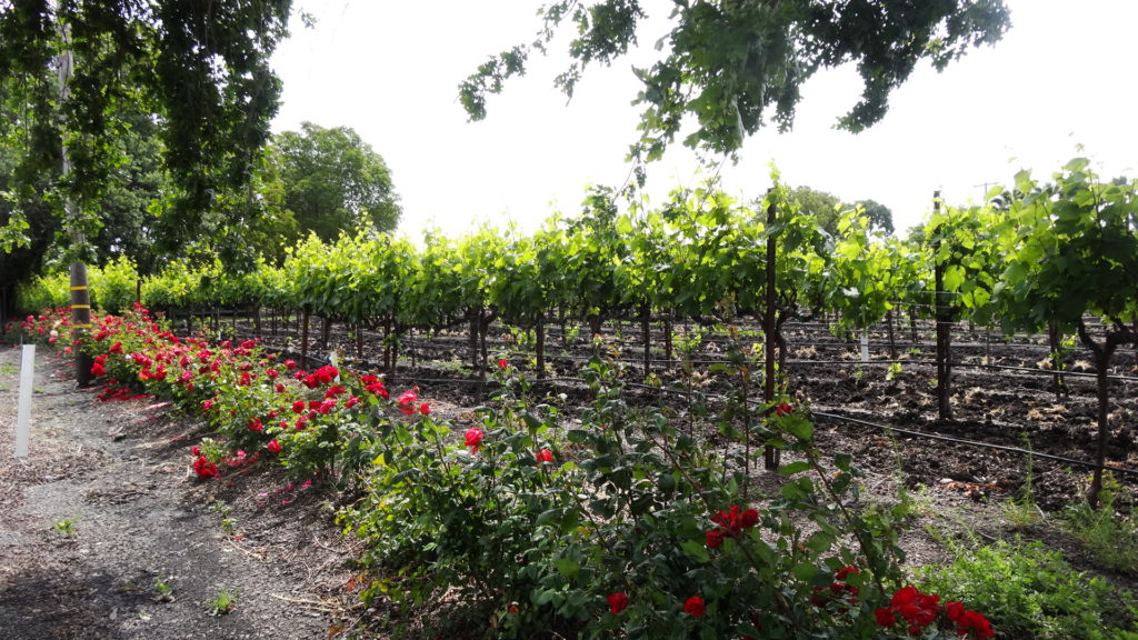
[[[525,73],[529,55],[545,52],[564,23],[576,38],[555,84],[571,97],[591,63],[611,64],[637,43],[644,5],[550,2],[533,42],[490,57],[460,85],[467,113],[485,117],[487,96]],[[844,64],[857,66],[864,90],[838,126],[860,131],[885,115],[890,92],[917,63],[943,69],[968,48],[999,40],[1009,25],[1001,0],[673,0],[655,7],[670,9],[671,31],[657,43],[660,58],[635,69],[644,87],[635,102],[642,113],[634,159],[660,157],[688,117],[696,126],[684,143],[712,153],[736,151],[767,120],[789,129],[802,83]]]

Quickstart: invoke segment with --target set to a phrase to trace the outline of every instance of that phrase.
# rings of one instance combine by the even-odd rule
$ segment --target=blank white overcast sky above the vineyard
[[[930,208],[934,189],[950,204],[979,200],[984,183],[1011,183],[1021,169],[1046,178],[1075,155],[1090,157],[1103,178],[1133,178],[1138,1],[1007,3],[1013,26],[1003,41],[941,74],[918,67],[885,120],[861,134],[832,129],[860,92],[855,69],[819,73],[802,89],[794,131],[748,140],[740,163],[724,166],[724,188],[762,194],[774,161],[786,183],[875,199],[905,229]],[[554,211],[579,211],[587,184],[628,178],[640,88],[632,65],[652,59],[671,3],[644,5],[652,18],[640,36],[644,50],[586,69],[571,101],[553,87],[567,59],[554,47],[489,98],[485,121],[471,123],[459,83],[490,54],[530,41],[538,3],[297,0],[318,24],[294,19],[273,58],[284,83],[273,129],[298,130],[303,121],[354,129],[390,167],[399,231],[412,238],[429,225],[457,236],[483,221],[531,231]],[[701,179],[676,147],[650,165],[653,203]]]

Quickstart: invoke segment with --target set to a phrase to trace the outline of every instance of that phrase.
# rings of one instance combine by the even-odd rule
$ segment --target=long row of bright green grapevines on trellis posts
[[[938,202],[920,232],[899,239],[872,233],[858,211],[831,237],[789,199],[776,173],[773,180],[754,203],[703,187],[676,191],[659,208],[633,204],[625,212],[616,194],[595,189],[579,216],[551,219],[528,236],[485,227],[457,239],[429,232],[421,248],[366,232],[331,244],[312,237],[281,266],[231,273],[175,263],[137,292],[131,265],[121,262],[96,272],[92,289],[108,310],[125,307],[131,294],[165,310],[298,309],[305,331],[310,314],[356,328],[357,340],[364,329],[381,331],[389,366],[406,331],[464,323],[471,366],[483,375],[495,319],[535,333],[541,376],[554,312],[562,321],[586,321],[593,334],[605,319],[640,320],[646,372],[650,321],[665,325],[667,340],[673,321],[729,322],[769,312],[767,339],[784,354],[780,329],[787,320],[828,317],[851,333],[883,320],[892,327],[905,311],[937,327],[942,418],[950,417],[954,322],[1046,330],[1053,352],[1064,335],[1078,335],[1099,374],[1103,462],[1106,372],[1119,346],[1138,338],[1138,182],[1100,181],[1079,158],[1050,182],[1021,173],[982,206]],[[24,289],[24,306],[64,305],[67,288],[57,280]],[[1103,322],[1091,326],[1088,317]],[[302,345],[307,348],[306,334]],[[1098,486],[1096,478],[1092,497]]]

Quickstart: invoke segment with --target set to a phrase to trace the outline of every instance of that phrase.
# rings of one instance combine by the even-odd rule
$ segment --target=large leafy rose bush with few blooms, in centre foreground
[[[476,411],[463,442],[429,418],[388,424],[374,441],[368,495],[341,514],[346,531],[368,541],[365,599],[423,604],[457,589],[484,607],[496,637],[725,638],[761,624],[772,637],[847,638],[875,629],[864,601],[832,584],[858,564],[842,580],[880,601],[882,581],[900,576],[896,523],[851,507],[859,471],[848,457],[836,470],[818,462],[805,416],[756,432],[805,460],[784,467],[778,494],[752,498],[752,524],[727,530],[728,514],[747,508],[739,460],[712,454],[669,416],[625,404],[610,364],[589,363],[595,400],[568,429],[555,408],[531,404],[511,367],[497,375],[502,393]],[[803,518],[816,531],[794,524]],[[843,531],[860,532],[852,547]],[[617,593],[628,605],[613,614],[607,600]],[[707,617],[685,613],[695,596]]]

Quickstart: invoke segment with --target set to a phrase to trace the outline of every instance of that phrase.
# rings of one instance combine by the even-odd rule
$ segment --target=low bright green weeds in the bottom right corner
[[[1008,638],[1123,639],[1138,632],[1138,600],[1074,572],[1039,542],[949,543],[950,564],[918,571],[921,584],[968,602]]]

